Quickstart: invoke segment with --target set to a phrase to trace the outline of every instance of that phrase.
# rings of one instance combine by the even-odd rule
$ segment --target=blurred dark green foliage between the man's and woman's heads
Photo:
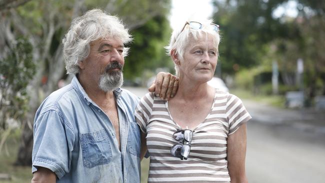
[[[170,31],[165,16],[156,16],[131,31],[134,40],[125,61],[125,78],[141,76],[144,70],[154,70],[157,67],[172,68],[172,61],[163,48],[168,43]]]

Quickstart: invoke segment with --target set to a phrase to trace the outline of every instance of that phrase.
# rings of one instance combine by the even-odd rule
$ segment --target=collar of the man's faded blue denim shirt
[[[94,102],[90,99],[88,94],[85,92],[85,90],[81,86],[76,75],[73,76],[73,78],[71,80],[71,84],[72,84],[73,88],[75,89],[75,91],[78,93],[78,95],[86,101],[87,105],[89,105],[90,103],[94,104]],[[119,99],[121,93],[122,93],[122,89],[119,87],[113,90],[113,94],[114,94],[116,100]]]

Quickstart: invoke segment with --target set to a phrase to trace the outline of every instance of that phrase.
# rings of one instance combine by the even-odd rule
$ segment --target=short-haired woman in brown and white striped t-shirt
[[[164,101],[147,93],[135,110],[148,149],[148,182],[247,182],[246,122],[236,96],[207,84],[218,58],[218,25],[188,21],[166,47],[179,77],[177,93]]]

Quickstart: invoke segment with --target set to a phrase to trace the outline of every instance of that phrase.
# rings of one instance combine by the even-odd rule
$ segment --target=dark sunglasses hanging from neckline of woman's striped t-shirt
[[[190,152],[193,131],[190,129],[177,130],[172,136],[181,143],[174,144],[170,149],[170,154],[179,157],[181,160],[187,159]]]

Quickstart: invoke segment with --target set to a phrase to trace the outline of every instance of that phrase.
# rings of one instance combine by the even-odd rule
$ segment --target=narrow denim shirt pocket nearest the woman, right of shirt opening
[[[140,128],[136,122],[129,122],[128,135],[127,135],[127,147],[129,153],[140,156],[141,148],[141,134]]]

